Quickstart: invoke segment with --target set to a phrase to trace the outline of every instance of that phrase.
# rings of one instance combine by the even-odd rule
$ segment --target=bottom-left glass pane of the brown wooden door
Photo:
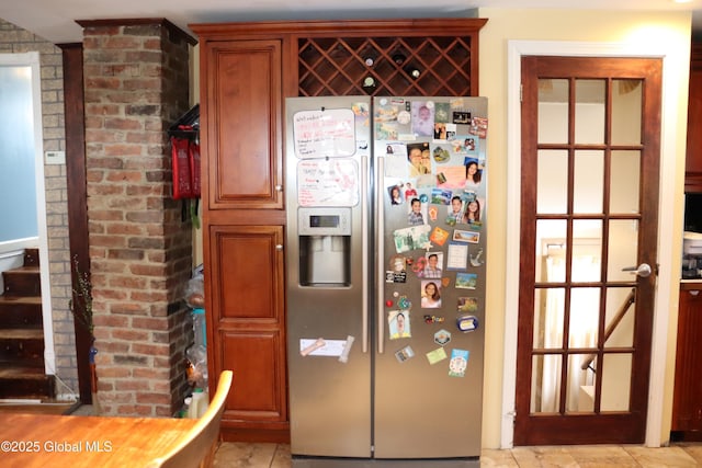
[[[561,404],[561,356],[533,356],[531,413],[555,413]]]

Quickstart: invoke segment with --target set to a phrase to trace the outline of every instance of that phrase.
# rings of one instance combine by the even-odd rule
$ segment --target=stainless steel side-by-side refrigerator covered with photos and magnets
[[[479,466],[487,100],[285,107],[293,466]]]

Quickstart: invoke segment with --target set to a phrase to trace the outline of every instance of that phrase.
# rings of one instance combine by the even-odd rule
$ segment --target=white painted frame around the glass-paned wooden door
[[[649,41],[638,43],[584,43],[551,41],[509,41],[507,45],[507,240],[506,240],[506,282],[505,282],[505,353],[502,365],[502,409],[500,447],[513,447],[514,395],[517,390],[517,338],[519,319],[519,270],[513,260],[520,255],[520,197],[521,197],[521,58],[526,55],[563,57],[646,57],[663,59],[663,100],[660,130],[660,194],[658,201],[658,258],[673,259],[675,210],[663,209],[675,206],[678,127],[678,107],[676,98],[677,82],[673,65],[681,57],[672,57],[665,47]],[[684,52],[682,52],[684,55]],[[689,55],[689,54],[688,54]],[[666,79],[668,78],[668,79]],[[687,122],[681,123],[687,127]],[[682,151],[684,152],[684,151]],[[666,158],[666,155],[668,158]],[[671,278],[672,263],[660,263],[659,278]],[[647,447],[659,447],[661,438],[664,391],[666,374],[668,315],[671,304],[671,288],[656,287],[654,304],[654,324],[652,336],[650,379],[648,386],[648,412],[646,418]]]

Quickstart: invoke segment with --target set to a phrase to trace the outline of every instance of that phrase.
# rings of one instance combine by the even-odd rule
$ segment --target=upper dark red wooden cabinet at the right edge
[[[702,44],[692,44],[684,191],[702,192]]]

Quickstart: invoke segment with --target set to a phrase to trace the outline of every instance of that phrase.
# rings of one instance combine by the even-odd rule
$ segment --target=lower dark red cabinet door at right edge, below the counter
[[[702,290],[681,290],[672,431],[702,430]]]

